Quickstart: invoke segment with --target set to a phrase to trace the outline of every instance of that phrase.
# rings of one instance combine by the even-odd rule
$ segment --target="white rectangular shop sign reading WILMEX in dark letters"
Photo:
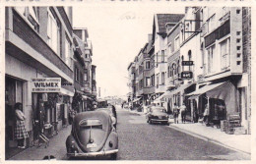
[[[60,92],[60,78],[32,79],[32,92]]]

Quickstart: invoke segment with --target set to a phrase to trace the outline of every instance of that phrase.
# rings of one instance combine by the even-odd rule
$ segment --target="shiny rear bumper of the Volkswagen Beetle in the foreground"
[[[107,150],[107,151],[99,151],[99,152],[74,152],[67,153],[69,157],[94,157],[94,156],[103,156],[108,154],[117,153],[118,149]]]

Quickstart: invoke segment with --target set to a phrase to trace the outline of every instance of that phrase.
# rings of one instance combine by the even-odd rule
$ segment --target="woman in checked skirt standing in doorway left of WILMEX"
[[[26,117],[23,113],[23,104],[18,102],[15,104],[15,117],[16,117],[16,126],[15,126],[15,138],[18,141],[18,147],[19,148],[26,148],[25,138],[29,137],[28,132],[25,129],[25,120]]]

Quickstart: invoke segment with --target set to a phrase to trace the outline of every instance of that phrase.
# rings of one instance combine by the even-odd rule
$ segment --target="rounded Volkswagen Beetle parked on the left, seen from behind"
[[[89,111],[76,115],[71,135],[67,137],[68,157],[110,156],[116,159],[118,136],[111,116],[105,111]]]

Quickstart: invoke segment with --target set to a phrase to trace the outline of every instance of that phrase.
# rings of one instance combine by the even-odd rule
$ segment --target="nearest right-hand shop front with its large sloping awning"
[[[186,94],[190,101],[192,121],[202,119],[206,107],[209,107],[209,122],[214,125],[220,125],[229,116],[239,116],[237,93],[232,82],[218,82]]]

